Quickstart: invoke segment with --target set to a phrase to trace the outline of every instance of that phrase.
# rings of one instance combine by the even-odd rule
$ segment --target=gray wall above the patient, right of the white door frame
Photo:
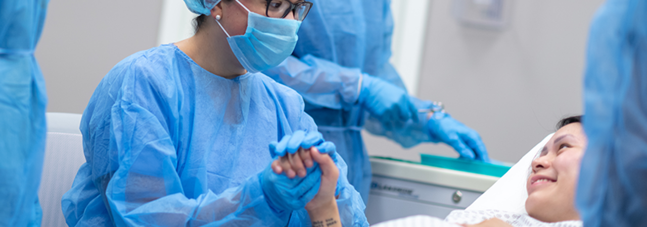
[[[602,0],[514,1],[503,32],[459,25],[450,3],[430,6],[419,97],[443,101],[453,117],[481,133],[490,157],[516,162],[564,115],[582,114],[587,32]],[[455,155],[445,145],[404,150],[364,135],[371,155]]]

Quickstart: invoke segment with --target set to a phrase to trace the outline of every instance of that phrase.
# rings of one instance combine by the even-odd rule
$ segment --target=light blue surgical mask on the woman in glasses
[[[238,61],[247,72],[256,73],[278,66],[289,57],[296,46],[296,32],[301,21],[265,17],[250,12],[238,0],[236,2],[247,10],[247,30],[244,35],[230,36],[225,31],[227,41]]]

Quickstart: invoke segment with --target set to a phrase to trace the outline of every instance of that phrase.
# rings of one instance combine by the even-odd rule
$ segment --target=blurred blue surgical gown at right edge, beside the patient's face
[[[584,226],[647,224],[647,1],[609,0],[591,25],[589,144],[576,193]]]

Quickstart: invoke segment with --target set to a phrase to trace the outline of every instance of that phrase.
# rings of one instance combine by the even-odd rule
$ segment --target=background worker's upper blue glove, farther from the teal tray
[[[358,102],[383,123],[418,121],[418,110],[406,90],[371,75],[363,75]]]

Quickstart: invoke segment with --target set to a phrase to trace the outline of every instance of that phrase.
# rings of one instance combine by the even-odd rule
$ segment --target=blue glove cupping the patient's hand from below
[[[319,164],[306,168],[305,177],[292,179],[285,174],[276,174],[270,163],[261,175],[261,187],[268,203],[276,212],[290,212],[305,207],[319,192],[322,172]]]

